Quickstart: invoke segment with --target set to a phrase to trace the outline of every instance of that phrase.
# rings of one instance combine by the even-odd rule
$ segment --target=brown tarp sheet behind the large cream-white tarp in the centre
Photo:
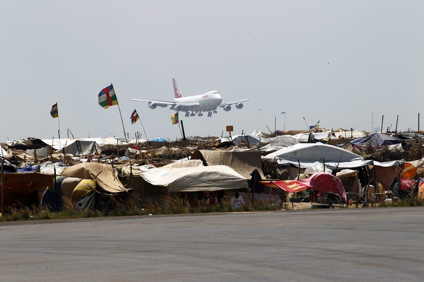
[[[191,159],[200,159],[204,162],[204,166],[226,165],[234,169],[246,179],[251,179],[255,169],[259,172],[262,179],[261,152],[259,151],[210,151],[196,150],[193,152]]]

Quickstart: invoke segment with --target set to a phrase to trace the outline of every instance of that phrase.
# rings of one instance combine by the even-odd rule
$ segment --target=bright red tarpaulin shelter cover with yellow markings
[[[346,191],[340,179],[326,172],[318,172],[308,178],[300,180],[272,180],[260,181],[260,183],[272,188],[283,189],[286,192],[300,192],[307,188],[311,188],[316,191],[335,193],[343,196],[344,200],[347,202]]]

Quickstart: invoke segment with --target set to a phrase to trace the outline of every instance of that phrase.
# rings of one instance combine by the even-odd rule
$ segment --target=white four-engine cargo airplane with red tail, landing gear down
[[[231,105],[236,105],[237,109],[243,108],[242,102],[249,101],[249,99],[243,99],[239,101],[221,103],[222,98],[218,91],[209,91],[202,95],[194,95],[183,97],[183,93],[178,87],[177,80],[172,78],[174,84],[175,99],[173,101],[168,100],[138,100],[130,99],[132,101],[147,102],[149,103],[150,109],[156,109],[157,107],[166,108],[170,106],[170,110],[185,111],[186,117],[188,116],[203,116],[203,113],[207,111],[207,116],[211,117],[212,113],[217,113],[217,108],[220,107],[225,111],[231,110]]]

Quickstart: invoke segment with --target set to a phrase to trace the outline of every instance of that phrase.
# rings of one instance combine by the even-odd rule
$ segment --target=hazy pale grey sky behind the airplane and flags
[[[424,1],[0,1],[0,141],[181,137],[169,109],[136,99],[217,90],[241,110],[184,117],[186,135],[321,127],[418,129],[424,94]],[[280,112],[285,111],[284,114]],[[422,112],[424,114],[424,111]],[[305,117],[305,120],[303,119]],[[424,120],[423,120],[424,121]],[[420,129],[424,129],[424,122]],[[143,133],[143,138],[144,133]]]

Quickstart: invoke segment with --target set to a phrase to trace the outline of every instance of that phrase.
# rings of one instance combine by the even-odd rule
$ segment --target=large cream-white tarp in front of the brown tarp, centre
[[[247,180],[224,165],[191,168],[155,168],[139,173],[147,182],[168,192],[193,192],[247,188]]]

